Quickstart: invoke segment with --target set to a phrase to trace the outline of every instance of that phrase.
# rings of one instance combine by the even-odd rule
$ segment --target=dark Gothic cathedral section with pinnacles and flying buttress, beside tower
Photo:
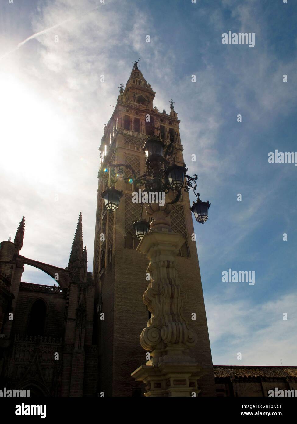
[[[94,282],[81,213],[66,269],[22,256],[24,234],[23,217],[14,242],[0,243],[0,387],[29,390],[30,396],[94,396]],[[22,282],[24,265],[58,285]]]

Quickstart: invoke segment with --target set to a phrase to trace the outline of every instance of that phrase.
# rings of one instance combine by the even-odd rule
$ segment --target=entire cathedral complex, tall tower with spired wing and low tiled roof
[[[144,173],[144,139],[155,134],[165,142],[173,138],[175,162],[183,165],[173,102],[170,113],[159,112],[154,97],[135,62],[126,86],[120,86],[99,148],[92,273],[87,271],[81,213],[65,269],[22,256],[24,217],[14,242],[0,243],[0,390],[30,390],[30,396],[143,395],[144,384],[131,373],[146,362],[139,336],[150,319],[142,302],[148,259],[136,250],[133,222],[146,215],[140,203],[132,202],[133,179],[125,182],[106,164],[130,165]],[[101,193],[111,180],[123,197],[116,211],[107,212]],[[169,192],[167,201],[173,198]],[[199,396],[267,396],[273,385],[296,389],[297,367],[213,366],[188,192],[172,205],[170,220],[173,232],[185,240],[176,262],[187,294],[183,315],[198,338],[190,355],[204,369]],[[24,265],[44,271],[56,285],[23,282]]]

